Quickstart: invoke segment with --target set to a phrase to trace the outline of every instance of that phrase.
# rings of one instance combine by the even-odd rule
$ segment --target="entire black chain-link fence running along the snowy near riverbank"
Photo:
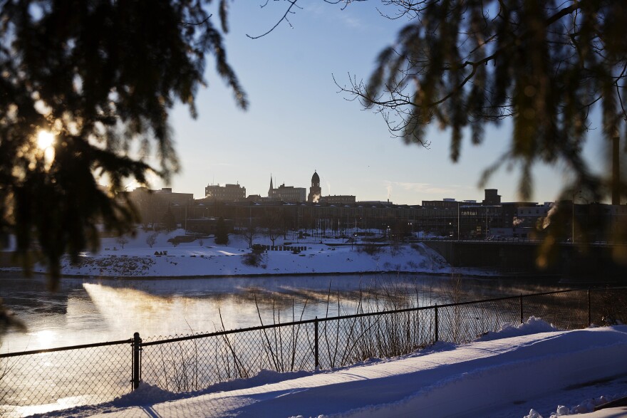
[[[316,318],[216,333],[0,355],[0,417],[107,402],[140,384],[203,390],[260,370],[329,369],[435,341],[466,343],[530,316],[562,329],[627,323],[627,289],[573,290]]]

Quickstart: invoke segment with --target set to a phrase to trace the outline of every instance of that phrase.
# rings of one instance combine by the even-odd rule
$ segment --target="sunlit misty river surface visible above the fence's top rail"
[[[159,280],[0,277],[0,297],[28,325],[4,335],[1,352],[142,337],[206,333],[455,300],[559,288],[531,280],[448,276],[274,276]]]

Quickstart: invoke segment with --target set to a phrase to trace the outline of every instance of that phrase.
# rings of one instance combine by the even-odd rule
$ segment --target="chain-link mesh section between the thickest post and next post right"
[[[252,377],[261,370],[314,369],[313,323],[167,342],[171,339],[150,338],[142,345],[142,382],[170,392],[201,390],[217,382]]]

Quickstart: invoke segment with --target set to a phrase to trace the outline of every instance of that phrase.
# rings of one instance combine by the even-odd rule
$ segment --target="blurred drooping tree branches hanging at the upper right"
[[[393,135],[429,147],[427,126],[435,122],[450,132],[450,157],[456,162],[465,135],[480,144],[489,125],[509,120],[509,149],[485,169],[481,186],[500,167],[519,167],[519,195],[528,200],[534,164],[541,162],[568,174],[561,200],[580,191],[589,202],[611,196],[619,204],[627,196],[618,168],[627,160],[627,146],[620,147],[627,134],[623,1],[383,4],[383,16],[409,23],[379,53],[367,81],[350,75],[348,83],[336,84],[351,100],[383,115]],[[298,0],[288,1],[276,25],[297,9]],[[596,117],[612,158],[589,167],[582,152]],[[555,219],[565,218],[556,212]],[[624,241],[622,226],[617,232]]]

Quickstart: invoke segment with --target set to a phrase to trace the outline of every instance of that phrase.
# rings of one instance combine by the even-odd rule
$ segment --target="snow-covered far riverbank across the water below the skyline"
[[[381,247],[376,254],[367,254],[363,246],[333,246],[341,239],[306,239],[299,241],[276,240],[276,246],[305,247],[304,251],[268,251],[259,258],[257,266],[245,263],[250,254],[242,236],[229,235],[229,244],[217,245],[213,238],[196,240],[172,246],[167,240],[185,234],[182,229],[162,232],[157,242],[148,246],[146,239],[153,234],[138,229],[135,238],[128,238],[124,248],[117,239],[102,240],[98,254],[85,253],[78,266],[63,261],[66,276],[96,277],[177,277],[177,276],[248,276],[311,273],[375,273],[385,271],[411,273],[450,273],[450,267],[435,251],[424,244],[393,248]],[[255,244],[270,245],[264,236]],[[331,245],[327,245],[331,244]],[[167,255],[159,255],[163,253]],[[155,254],[157,253],[157,254]],[[44,272],[39,266],[36,271]]]

